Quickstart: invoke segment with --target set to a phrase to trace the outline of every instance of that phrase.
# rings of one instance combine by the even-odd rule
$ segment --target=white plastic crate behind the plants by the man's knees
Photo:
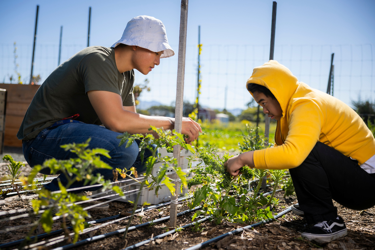
[[[164,156],[173,157],[173,153],[168,153],[166,151],[166,148],[159,148],[159,154],[161,155],[161,157],[164,157]],[[186,156],[192,156],[192,155],[193,154],[189,150],[185,150],[185,149],[181,150],[181,152],[180,152],[180,167],[181,167],[182,170],[187,169],[188,166],[189,166],[189,160],[186,159]],[[153,176],[156,176],[157,173],[159,172],[160,167],[162,167],[162,165],[163,165],[162,162],[156,163],[154,165],[154,168],[153,168],[151,174]],[[168,175],[169,178],[172,177],[173,173],[174,173],[174,171],[172,171],[172,168],[167,169],[166,174]],[[129,179],[129,178],[126,178],[126,179]],[[122,180],[126,180],[126,179],[122,179]],[[140,183],[137,183],[136,181],[133,181],[133,180],[126,181],[126,182],[123,182],[123,183],[117,183],[115,185],[119,186],[121,188],[121,190],[123,190],[123,192],[136,190],[136,189],[139,189],[139,187],[141,186]],[[180,191],[178,191],[178,192],[180,192]],[[126,193],[124,196],[119,198],[117,201],[123,201],[123,202],[135,201],[137,193],[138,193],[137,191]],[[141,191],[141,195],[139,196],[137,205],[142,205],[143,202],[145,202],[145,201],[147,201],[150,204],[159,204],[160,202],[166,202],[166,201],[171,200],[171,192],[169,191],[168,187],[166,187],[165,185],[160,186],[160,189],[157,191],[157,193],[158,193],[158,195],[156,196],[155,195],[155,189],[153,189],[153,190],[143,189]],[[187,189],[183,189],[182,194],[184,195],[186,193],[187,193]],[[99,190],[93,191],[92,194],[93,194],[94,197],[103,197],[103,196],[115,194],[115,192],[113,192],[112,190],[106,190],[106,192],[102,193],[101,189],[99,189]],[[107,199],[111,199],[111,198],[107,198]]]

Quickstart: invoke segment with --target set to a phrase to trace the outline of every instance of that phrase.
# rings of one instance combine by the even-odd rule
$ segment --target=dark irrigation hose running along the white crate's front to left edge
[[[186,200],[186,199],[189,199],[191,198],[192,195],[189,195],[189,196],[184,196],[184,197],[181,197],[178,199],[178,201],[183,201],[183,200]],[[163,206],[166,206],[168,204],[170,204],[171,202],[168,201],[168,202],[164,202],[162,204],[158,204],[158,205],[154,205],[154,206],[150,206],[150,207],[146,207],[143,209],[143,211],[148,211],[148,210],[151,210],[151,209],[154,209],[154,208],[159,208],[159,207],[163,207]],[[140,212],[141,209],[138,209],[138,210],[135,210],[135,213],[138,213]],[[112,220],[112,219],[116,219],[120,217],[120,214],[118,215],[115,215],[115,216],[110,216],[110,217],[107,217],[107,218],[103,218],[103,219],[99,219],[99,220],[92,220],[90,222],[87,222],[89,224],[93,224],[93,223],[101,223],[101,222],[105,222],[107,220]],[[130,216],[128,216],[130,217]],[[66,229],[72,229],[73,227],[69,227],[69,228],[66,228]],[[49,232],[49,233],[44,233],[44,234],[39,234],[39,235],[36,235],[36,236],[33,236],[33,237],[30,237],[30,241],[31,240],[34,240],[35,238],[43,238],[43,237],[49,237],[49,236],[53,236],[53,235],[56,235],[56,234],[60,234],[62,232],[64,232],[65,229],[59,229],[59,230],[56,230],[56,231],[52,231],[52,232]],[[12,246],[16,246],[20,243],[22,243],[25,239],[22,239],[22,240],[17,240],[17,241],[12,241],[12,242],[9,242],[9,243],[4,243],[4,244],[1,244],[0,245],[0,249],[2,248],[5,248],[5,247],[12,247]]]

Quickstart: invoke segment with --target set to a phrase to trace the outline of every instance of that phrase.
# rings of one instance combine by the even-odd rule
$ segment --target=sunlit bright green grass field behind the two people
[[[199,136],[198,146],[214,145],[219,148],[220,151],[237,151],[239,150],[238,143],[242,142],[241,135],[245,132],[245,124],[248,123],[251,128],[255,129],[256,123],[250,121],[242,122],[229,122],[219,123],[215,121],[213,123],[203,122],[201,123],[202,131],[204,135]],[[264,122],[259,124],[260,134],[264,135]],[[276,123],[270,123],[270,143],[275,143],[275,130]]]

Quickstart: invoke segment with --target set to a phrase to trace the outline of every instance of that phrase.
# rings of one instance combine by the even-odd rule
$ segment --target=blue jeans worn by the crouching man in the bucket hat
[[[125,142],[121,147],[118,147],[120,139],[116,137],[121,135],[106,129],[105,127],[94,125],[94,124],[81,124],[81,123],[67,123],[54,127],[53,129],[46,128],[42,130],[35,138],[23,141],[23,153],[27,163],[34,167],[35,165],[42,165],[45,160],[55,158],[57,160],[66,160],[70,158],[77,158],[77,154],[70,151],[65,151],[60,145],[69,143],[83,143],[87,139],[91,138],[89,148],[104,148],[109,152],[111,158],[101,156],[101,160],[110,165],[113,169],[129,169],[135,167],[137,172],[145,171],[145,166],[142,164],[138,144],[133,142],[130,147],[126,148]],[[139,142],[138,142],[139,143]],[[153,145],[155,148],[156,145]],[[151,156],[151,152],[146,150],[144,153],[144,159]],[[42,169],[42,174],[51,174],[49,168]],[[105,180],[113,180],[112,169],[95,169],[93,175],[100,173],[104,176]],[[59,173],[60,174],[60,173]],[[63,186],[68,183],[65,175],[59,175],[60,181]],[[118,175],[118,179],[121,176]],[[69,188],[82,187],[83,181],[76,181]],[[51,183],[44,185],[44,187],[50,191],[60,190],[58,187],[57,178],[52,180]],[[95,191],[100,187],[91,187],[77,191]]]

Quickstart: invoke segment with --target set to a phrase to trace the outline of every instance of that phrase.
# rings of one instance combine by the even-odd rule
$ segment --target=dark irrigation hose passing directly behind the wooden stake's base
[[[192,208],[192,209],[189,209],[189,210],[185,210],[185,211],[183,211],[181,213],[178,213],[177,216],[181,216],[183,214],[187,214],[187,213],[193,212],[195,210],[198,210],[199,208],[201,208],[201,206],[198,206],[198,207],[195,207],[195,208]],[[148,225],[151,225],[151,224],[154,224],[154,223],[162,222],[164,220],[168,220],[169,218],[170,218],[170,216],[166,216],[166,217],[163,217],[163,218],[160,218],[160,219],[153,220],[151,222],[145,222],[145,223],[142,223],[142,224],[131,226],[131,227],[129,227],[128,231],[134,230],[134,229],[137,229],[137,228],[142,228],[144,226],[148,226]],[[74,244],[68,244],[68,245],[65,245],[63,247],[57,247],[57,248],[52,249],[52,250],[66,250],[66,249],[71,249],[72,247],[81,246],[81,245],[84,245],[84,244],[87,244],[87,243],[90,243],[90,242],[94,242],[94,241],[97,241],[97,240],[101,240],[101,239],[110,237],[112,235],[121,234],[122,232],[125,232],[125,230],[126,230],[126,228],[123,228],[123,229],[120,229],[120,230],[117,230],[117,231],[113,231],[113,232],[110,232],[110,233],[107,233],[107,234],[97,235],[97,236],[94,236],[94,237],[91,237],[91,238],[87,238],[86,240],[77,241]]]

